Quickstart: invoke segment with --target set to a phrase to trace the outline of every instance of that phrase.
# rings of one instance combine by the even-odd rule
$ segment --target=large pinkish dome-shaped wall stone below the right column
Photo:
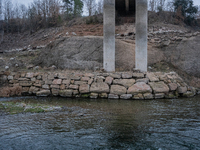
[[[137,82],[128,88],[127,94],[152,93],[151,87],[144,82]]]

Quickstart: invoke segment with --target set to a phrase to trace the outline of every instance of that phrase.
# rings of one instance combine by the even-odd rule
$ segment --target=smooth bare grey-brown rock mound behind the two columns
[[[135,67],[135,45],[116,39],[116,71]],[[149,46],[149,64],[164,59],[158,48]],[[103,66],[103,37],[69,37],[50,43],[34,61],[35,65],[60,69],[95,69]]]

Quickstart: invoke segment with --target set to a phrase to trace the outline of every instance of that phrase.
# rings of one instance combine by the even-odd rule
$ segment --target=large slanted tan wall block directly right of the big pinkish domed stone
[[[153,89],[154,93],[168,93],[169,87],[163,82],[150,82],[149,85]]]

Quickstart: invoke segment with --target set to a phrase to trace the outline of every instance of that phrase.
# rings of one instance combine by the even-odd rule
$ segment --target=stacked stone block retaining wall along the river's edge
[[[0,82],[1,97],[161,99],[200,94],[175,72],[1,72]]]

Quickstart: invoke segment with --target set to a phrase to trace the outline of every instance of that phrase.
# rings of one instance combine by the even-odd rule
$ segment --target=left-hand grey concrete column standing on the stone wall
[[[103,68],[115,71],[115,0],[104,0]]]

